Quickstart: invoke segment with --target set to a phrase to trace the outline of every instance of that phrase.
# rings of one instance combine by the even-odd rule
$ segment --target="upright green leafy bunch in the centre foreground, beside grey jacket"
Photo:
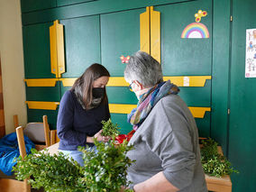
[[[133,163],[125,154],[133,146],[127,142],[115,146],[114,141],[96,142],[97,153],[80,148],[84,153],[85,171],[81,178],[82,185],[86,185],[87,192],[118,192],[121,187],[127,187],[127,168]],[[123,191],[133,191],[125,189]]]

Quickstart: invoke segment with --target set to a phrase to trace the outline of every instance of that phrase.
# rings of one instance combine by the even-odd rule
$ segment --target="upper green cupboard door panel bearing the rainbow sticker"
[[[156,6],[161,13],[161,65],[164,76],[211,75],[212,7],[211,0]],[[195,23],[198,10],[207,12],[201,23],[210,33],[207,39],[182,39],[181,33]]]

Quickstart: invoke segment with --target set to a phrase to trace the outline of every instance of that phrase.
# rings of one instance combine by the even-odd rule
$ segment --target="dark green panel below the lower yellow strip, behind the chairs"
[[[57,127],[57,110],[40,110],[40,109],[27,109],[28,123],[42,122],[42,116],[47,115],[50,130],[56,130]]]

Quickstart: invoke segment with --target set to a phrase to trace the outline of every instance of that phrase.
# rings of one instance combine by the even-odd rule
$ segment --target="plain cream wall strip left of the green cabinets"
[[[14,132],[14,114],[20,124],[27,121],[20,0],[0,0],[0,57],[7,134]]]

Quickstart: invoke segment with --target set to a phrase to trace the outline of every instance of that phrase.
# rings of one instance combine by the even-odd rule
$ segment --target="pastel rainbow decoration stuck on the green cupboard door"
[[[209,38],[209,32],[203,23],[190,23],[183,30],[181,38]]]

